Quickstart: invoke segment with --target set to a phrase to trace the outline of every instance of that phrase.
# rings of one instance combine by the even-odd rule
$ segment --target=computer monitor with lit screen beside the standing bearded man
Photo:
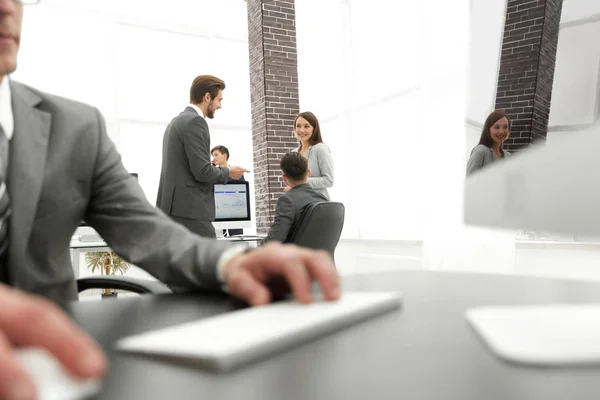
[[[215,184],[215,222],[217,235],[223,229],[252,228],[248,182]]]

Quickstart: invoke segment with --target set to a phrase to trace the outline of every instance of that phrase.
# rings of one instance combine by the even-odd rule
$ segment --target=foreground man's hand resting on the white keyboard
[[[267,304],[272,293],[291,292],[302,303],[312,301],[311,282],[318,281],[326,300],[340,296],[339,277],[329,253],[277,242],[242,253],[225,266],[232,296],[250,305]]]

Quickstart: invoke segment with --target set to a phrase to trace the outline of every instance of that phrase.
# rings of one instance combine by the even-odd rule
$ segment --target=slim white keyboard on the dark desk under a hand
[[[252,307],[124,338],[122,351],[169,356],[226,371],[398,308],[397,293],[343,293],[336,302]]]

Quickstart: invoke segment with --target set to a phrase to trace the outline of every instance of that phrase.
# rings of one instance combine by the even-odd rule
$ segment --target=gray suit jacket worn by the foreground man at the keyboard
[[[85,220],[161,281],[218,288],[215,266],[227,244],[190,234],[148,203],[97,109],[13,81],[11,90],[9,284],[60,303],[76,299],[69,243]]]

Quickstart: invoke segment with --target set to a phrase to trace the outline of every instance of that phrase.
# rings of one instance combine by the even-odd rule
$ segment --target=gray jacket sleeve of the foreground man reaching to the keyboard
[[[125,170],[99,112],[98,154],[85,220],[124,259],[170,285],[218,288],[216,264],[226,243],[191,234],[148,201]]]

